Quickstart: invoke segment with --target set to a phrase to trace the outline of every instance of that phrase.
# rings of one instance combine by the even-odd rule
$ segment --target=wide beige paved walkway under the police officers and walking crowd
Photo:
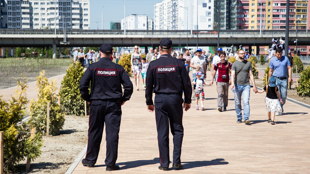
[[[210,76],[208,72],[207,82],[210,82]],[[267,123],[265,94],[251,92],[251,123],[237,124],[233,92],[230,90],[229,93],[228,111],[219,113],[216,86],[206,86],[204,91],[206,111],[196,111],[193,101],[191,109],[184,113],[185,135],[181,156],[184,170],[170,168],[171,171],[167,173],[309,173],[310,109],[287,101],[285,113],[276,117],[276,125],[271,125]],[[140,91],[134,91],[130,101],[123,106],[117,160],[121,170],[111,173],[166,173],[158,170],[155,114],[146,110],[144,96],[140,83]],[[172,160],[171,135],[170,149]],[[104,133],[95,167],[84,167],[80,161],[72,174],[106,173],[105,154]]]

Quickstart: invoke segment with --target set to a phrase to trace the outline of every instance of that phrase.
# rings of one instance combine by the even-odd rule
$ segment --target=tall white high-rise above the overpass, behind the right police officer
[[[163,0],[154,5],[154,29],[213,29],[213,25],[214,0],[198,0],[198,4],[197,0]]]

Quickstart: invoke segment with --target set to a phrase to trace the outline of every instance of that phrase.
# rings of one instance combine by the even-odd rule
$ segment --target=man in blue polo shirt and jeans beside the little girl
[[[283,105],[285,104],[287,96],[287,86],[288,83],[291,83],[292,81],[292,68],[290,60],[286,56],[282,56],[282,51],[282,48],[277,48],[277,56],[271,58],[269,63],[269,77],[276,77],[276,85],[279,89],[281,100],[283,102],[283,104],[281,104],[283,113]],[[289,73],[288,81],[287,73]],[[276,113],[276,116],[279,116],[279,113]]]

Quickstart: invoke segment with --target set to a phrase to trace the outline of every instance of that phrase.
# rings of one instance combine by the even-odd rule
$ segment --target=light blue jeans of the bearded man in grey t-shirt
[[[242,120],[242,106],[241,95],[243,95],[243,114],[244,120],[247,120],[250,116],[250,105],[248,103],[250,99],[250,85],[236,85],[234,84],[236,92],[234,93],[234,105],[238,120]]]

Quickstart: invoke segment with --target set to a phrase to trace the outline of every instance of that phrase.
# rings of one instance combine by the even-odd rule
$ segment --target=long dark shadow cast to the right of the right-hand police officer
[[[203,167],[203,166],[210,166],[210,165],[224,165],[229,164],[229,162],[225,161],[224,159],[215,159],[215,160],[204,160],[204,161],[189,161],[189,162],[182,162],[183,169],[192,169],[195,167]],[[176,169],[177,168],[171,168]]]

